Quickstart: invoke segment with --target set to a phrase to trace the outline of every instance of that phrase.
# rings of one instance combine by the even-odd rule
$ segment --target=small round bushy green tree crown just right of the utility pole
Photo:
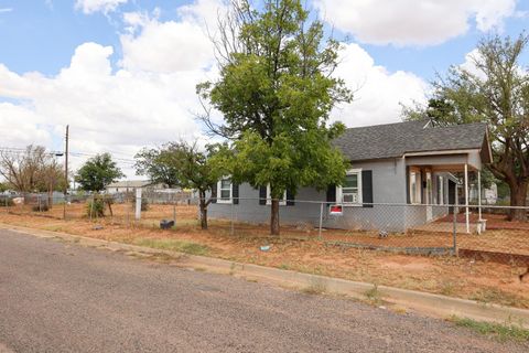
[[[112,160],[110,153],[101,153],[88,159],[83,164],[75,175],[75,181],[79,183],[82,190],[100,192],[108,184],[122,176],[125,174]]]

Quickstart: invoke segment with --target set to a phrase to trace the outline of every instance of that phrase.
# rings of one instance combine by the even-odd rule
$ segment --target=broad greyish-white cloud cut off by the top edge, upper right
[[[360,42],[433,45],[464,34],[501,29],[517,0],[314,0],[323,19]]]

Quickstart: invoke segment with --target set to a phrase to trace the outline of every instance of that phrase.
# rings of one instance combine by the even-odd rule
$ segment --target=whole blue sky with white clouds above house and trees
[[[529,24],[529,0],[306,6],[343,44],[336,75],[355,98],[332,120],[347,127],[401,120],[401,105],[424,101],[482,38]],[[142,147],[206,143],[195,85],[217,77],[208,33],[224,11],[223,0],[0,0],[0,147],[64,150],[69,125],[74,170],[111,152],[138,179],[130,160]]]

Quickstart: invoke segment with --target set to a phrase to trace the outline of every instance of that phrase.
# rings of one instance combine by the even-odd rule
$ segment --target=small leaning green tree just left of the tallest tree
[[[206,199],[207,192],[213,194],[217,180],[227,172],[217,157],[223,148],[217,145],[207,146],[206,151],[201,151],[196,142],[169,142],[156,149],[154,153],[147,153],[148,162],[145,162],[145,153],[138,153],[137,171],[138,173],[147,172],[151,180],[160,180],[158,179],[161,176],[160,173],[171,170],[172,185],[196,190],[199,199],[201,226],[207,229],[207,206],[214,201],[212,195]],[[149,167],[145,168],[145,165]]]

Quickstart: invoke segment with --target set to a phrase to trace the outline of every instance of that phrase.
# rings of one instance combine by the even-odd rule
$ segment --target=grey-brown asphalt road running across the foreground
[[[418,314],[0,231],[0,352],[528,352]]]

